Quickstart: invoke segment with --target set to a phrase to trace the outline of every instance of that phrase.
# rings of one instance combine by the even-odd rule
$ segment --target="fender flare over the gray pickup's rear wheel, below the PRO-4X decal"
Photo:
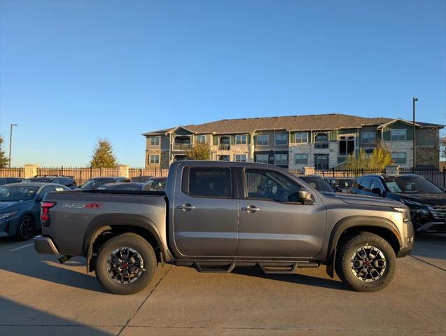
[[[83,237],[82,251],[87,256],[87,260],[91,259],[92,242],[104,231],[110,230],[114,225],[126,225],[130,227],[142,228],[150,232],[155,238],[162,260],[165,260],[165,246],[162,244],[160,234],[155,224],[144,216],[134,214],[104,214],[94,218],[85,230]]]

